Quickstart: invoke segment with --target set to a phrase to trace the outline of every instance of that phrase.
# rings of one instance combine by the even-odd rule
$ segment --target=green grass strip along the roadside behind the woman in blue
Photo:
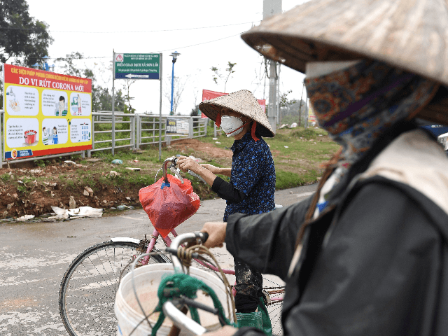
[[[218,140],[214,140],[213,127],[209,126],[207,137],[196,138],[198,141],[213,144],[216,148],[230,149],[234,139],[228,138],[222,132],[218,132]],[[337,151],[339,146],[333,143],[327,133],[320,129],[309,128],[305,130],[303,127],[295,129],[277,130],[276,137],[263,138],[269,144],[274,158],[276,167],[276,189],[293,188],[311,183],[316,183],[322,174],[322,164],[328,161],[332,154]],[[217,144],[218,142],[219,144]],[[173,141],[172,144],[175,144]],[[38,169],[47,169],[48,172],[57,172],[57,174],[45,174],[45,176],[29,176],[26,179],[27,186],[38,181],[41,185],[43,182],[57,182],[60,190],[67,194],[73,193],[75,190],[77,195],[82,195],[85,186],[92,188],[94,195],[104,192],[116,193],[117,195],[134,195],[133,198],[138,200],[138,190],[149,186],[155,181],[155,174],[162,167],[162,161],[165,158],[172,157],[176,154],[182,155],[202,155],[200,150],[186,148],[183,153],[179,153],[179,148],[172,146],[162,146],[162,161],[159,161],[158,144],[142,146],[139,151],[131,151],[128,148],[119,148],[116,155],[112,155],[110,151],[97,151],[92,153],[92,158],[97,158],[97,162],[92,162],[87,158],[81,158],[80,155],[72,155],[70,157],[61,157],[54,160],[36,161],[35,165]],[[200,156],[201,157],[201,156]],[[204,162],[217,167],[223,167],[223,160],[212,158],[210,155],[201,157]],[[114,159],[123,161],[123,165],[113,165]],[[76,169],[59,169],[59,167],[67,167],[71,164],[64,164],[65,160],[73,160],[83,165]],[[229,159],[225,159],[229,162]],[[140,168],[139,172],[126,169],[127,167]],[[110,172],[115,171],[119,175],[111,176]],[[52,176],[52,178],[50,178]],[[216,197],[211,188],[199,179],[189,174],[182,173],[184,178],[192,182],[195,193],[202,200]],[[17,186],[20,193],[28,193],[27,186],[18,183],[18,179],[22,179],[21,174],[17,174],[14,180],[10,180],[9,174],[3,174],[0,179],[3,183],[13,183]],[[159,172],[157,179],[162,178],[162,172]],[[221,178],[229,181],[227,176]],[[52,180],[51,180],[52,179]],[[22,181],[25,181],[22,179]],[[45,190],[48,191],[48,190]]]

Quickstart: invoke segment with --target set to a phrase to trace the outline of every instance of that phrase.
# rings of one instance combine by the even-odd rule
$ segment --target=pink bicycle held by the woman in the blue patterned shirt
[[[165,180],[167,180],[167,165],[175,167],[176,158],[168,158],[162,165]],[[172,169],[173,170],[173,169]],[[179,169],[174,171],[180,179]],[[156,175],[157,179],[157,175]],[[182,180],[181,180],[182,181]],[[176,230],[172,236],[178,237]],[[59,314],[70,336],[80,335],[116,335],[116,317],[113,304],[121,277],[130,272],[130,263],[142,253],[157,252],[147,255],[140,265],[148,263],[171,263],[172,260],[155,247],[158,237],[157,230],[153,231],[151,239],[134,239],[116,237],[86,248],[69,265],[62,277],[59,288]],[[169,236],[162,237],[165,246],[171,246]],[[202,266],[207,267],[204,262]],[[218,271],[216,267],[211,267]],[[235,275],[232,269],[223,270],[225,274]],[[276,335],[281,330],[281,302],[284,287],[263,277],[264,281],[273,286],[264,288],[265,304],[272,321],[272,328]],[[280,295],[271,297],[271,295]]]

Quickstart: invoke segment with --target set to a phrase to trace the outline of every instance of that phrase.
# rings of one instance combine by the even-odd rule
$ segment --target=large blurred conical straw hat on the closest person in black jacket
[[[313,0],[241,37],[300,72],[307,62],[368,57],[448,85],[448,0]],[[419,117],[448,125],[447,93]]]

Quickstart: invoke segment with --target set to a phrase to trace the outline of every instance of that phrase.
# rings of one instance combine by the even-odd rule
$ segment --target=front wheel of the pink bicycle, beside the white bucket
[[[59,314],[71,336],[116,335],[113,311],[120,274],[140,253],[132,241],[104,241],[80,253],[66,270],[59,289]],[[153,248],[154,252],[160,252]],[[154,255],[150,263],[171,262]]]

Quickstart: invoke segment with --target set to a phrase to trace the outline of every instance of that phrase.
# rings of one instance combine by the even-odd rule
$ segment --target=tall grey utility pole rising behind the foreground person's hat
[[[281,13],[281,0],[263,0],[263,20],[270,18],[273,15]],[[267,109],[267,120],[276,132],[276,115],[277,115],[277,71],[276,62],[269,60],[269,104]]]

